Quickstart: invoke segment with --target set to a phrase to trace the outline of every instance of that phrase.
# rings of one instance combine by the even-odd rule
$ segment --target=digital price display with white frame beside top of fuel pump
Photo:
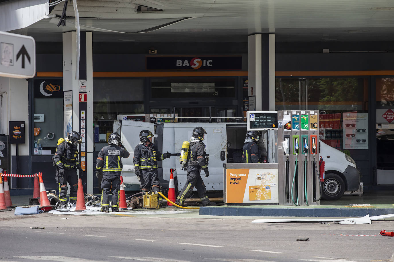
[[[248,131],[278,129],[278,111],[248,111],[246,115]]]

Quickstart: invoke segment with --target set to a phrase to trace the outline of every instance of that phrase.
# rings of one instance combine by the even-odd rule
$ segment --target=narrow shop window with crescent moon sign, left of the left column
[[[32,154],[55,154],[59,138],[64,138],[63,80],[35,79]]]

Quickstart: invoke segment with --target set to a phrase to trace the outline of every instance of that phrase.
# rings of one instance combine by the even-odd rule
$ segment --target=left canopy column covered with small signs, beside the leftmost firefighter
[[[72,104],[72,118],[69,122],[65,119],[64,133],[67,136],[72,131],[78,131],[82,136],[82,145],[79,152],[82,168],[87,178],[85,193],[93,193],[93,126],[91,126],[93,125],[93,61],[91,32],[80,32],[79,79],[75,79],[76,50],[76,32],[63,33],[63,90],[66,93],[72,92],[71,101],[65,101],[64,105],[66,109],[66,103],[68,105]],[[80,79],[87,81],[87,90],[84,92],[80,92],[79,89]],[[81,99],[80,94],[82,95]],[[65,117],[67,117],[66,112]]]

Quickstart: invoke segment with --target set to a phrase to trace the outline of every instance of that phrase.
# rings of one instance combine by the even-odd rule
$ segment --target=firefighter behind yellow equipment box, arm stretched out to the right
[[[141,191],[157,192],[160,190],[160,182],[157,170],[157,161],[170,158],[171,154],[161,153],[156,145],[152,143],[153,134],[149,130],[142,130],[139,133],[141,141],[134,148],[134,170],[141,183]]]

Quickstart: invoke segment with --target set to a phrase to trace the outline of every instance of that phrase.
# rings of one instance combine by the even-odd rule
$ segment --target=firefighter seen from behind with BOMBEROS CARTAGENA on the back
[[[96,177],[102,173],[100,187],[101,211],[109,211],[109,194],[112,191],[112,212],[119,211],[119,190],[121,185],[122,158],[128,158],[130,153],[122,145],[118,133],[112,133],[108,137],[108,146],[101,148],[97,156]]]

